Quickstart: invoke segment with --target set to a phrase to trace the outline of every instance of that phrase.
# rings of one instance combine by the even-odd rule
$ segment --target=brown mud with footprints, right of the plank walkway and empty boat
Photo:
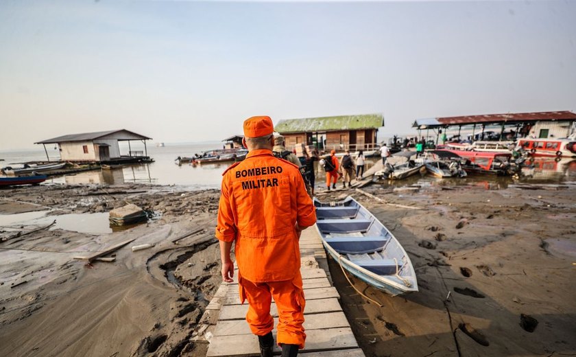
[[[331,260],[366,356],[576,356],[576,185],[485,187],[365,189],[418,210],[354,192],[403,244],[420,290],[389,297],[352,278],[376,306]]]

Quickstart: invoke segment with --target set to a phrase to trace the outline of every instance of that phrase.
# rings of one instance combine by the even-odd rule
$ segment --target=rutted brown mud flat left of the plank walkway
[[[123,185],[23,187],[0,194],[1,214],[93,213],[125,202],[155,212],[148,223],[101,235],[0,229],[10,238],[0,243],[0,356],[195,355],[191,333],[220,283],[213,238],[219,192]],[[111,253],[115,262],[73,260],[132,238]],[[130,250],[146,243],[154,246]]]

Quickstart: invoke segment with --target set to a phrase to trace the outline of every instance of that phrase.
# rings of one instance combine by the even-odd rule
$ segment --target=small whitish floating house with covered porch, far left
[[[43,144],[46,151],[46,144],[56,144],[60,150],[60,161],[71,161],[76,163],[132,163],[150,162],[146,148],[146,140],[151,138],[144,135],[132,133],[129,130],[110,130],[97,133],[82,133],[64,135],[53,139],[38,141]],[[128,141],[128,155],[120,153],[119,141]],[[144,150],[132,150],[130,141],[141,141],[144,143]],[[50,161],[50,159],[48,159]]]

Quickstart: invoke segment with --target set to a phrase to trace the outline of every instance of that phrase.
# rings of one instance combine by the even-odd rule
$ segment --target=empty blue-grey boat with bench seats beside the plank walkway
[[[418,291],[410,257],[368,209],[350,196],[314,205],[322,244],[348,273],[392,296]]]

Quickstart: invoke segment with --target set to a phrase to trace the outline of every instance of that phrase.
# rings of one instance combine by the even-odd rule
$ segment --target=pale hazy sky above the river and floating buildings
[[[576,1],[0,1],[0,149],[125,128],[224,139],[252,115],[576,110]]]

